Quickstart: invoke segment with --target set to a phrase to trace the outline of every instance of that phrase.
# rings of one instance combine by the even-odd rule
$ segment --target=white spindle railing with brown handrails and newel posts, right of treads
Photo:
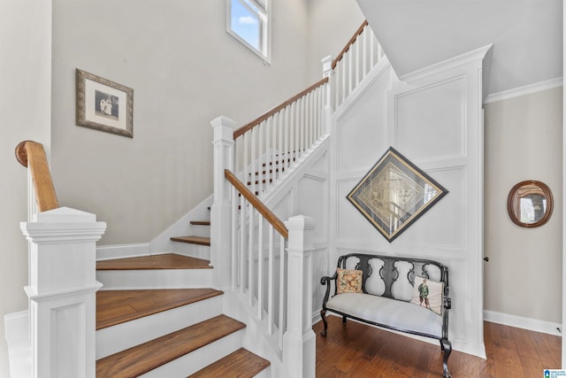
[[[264,325],[262,335],[270,337],[285,366],[280,376],[315,375],[310,360],[315,349],[312,247],[311,241],[303,243],[305,229],[311,235],[314,226],[307,217],[296,216],[287,224],[297,225],[286,228],[260,198],[268,203],[265,195],[330,134],[333,109],[352,95],[382,56],[364,22],[337,58],[323,59],[323,80],[235,131],[226,117],[211,122],[211,264],[219,273],[218,287],[240,293],[241,304]]]

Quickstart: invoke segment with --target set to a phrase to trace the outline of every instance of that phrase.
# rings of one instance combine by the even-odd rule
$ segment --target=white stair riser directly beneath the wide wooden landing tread
[[[212,269],[99,270],[103,290],[210,288]]]

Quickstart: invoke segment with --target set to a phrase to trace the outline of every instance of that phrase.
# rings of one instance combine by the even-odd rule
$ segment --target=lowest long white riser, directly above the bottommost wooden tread
[[[187,375],[194,374],[205,366],[222,359],[227,354],[241,348],[241,340],[244,330],[234,332],[223,337],[214,343],[203,346],[179,359],[174,359],[168,364],[159,366],[146,374],[140,375],[143,378],[186,378]]]

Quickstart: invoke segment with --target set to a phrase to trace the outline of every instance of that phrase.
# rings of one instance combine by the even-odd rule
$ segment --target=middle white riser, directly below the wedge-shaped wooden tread
[[[148,342],[222,313],[222,296],[96,331],[96,359]]]

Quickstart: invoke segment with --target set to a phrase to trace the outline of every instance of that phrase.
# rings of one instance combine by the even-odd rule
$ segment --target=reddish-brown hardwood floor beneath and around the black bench
[[[392,332],[329,316],[328,336],[317,334],[317,377],[441,377],[440,343],[425,343]],[[455,378],[542,377],[560,368],[562,337],[485,322],[487,359],[452,351],[448,367]]]

